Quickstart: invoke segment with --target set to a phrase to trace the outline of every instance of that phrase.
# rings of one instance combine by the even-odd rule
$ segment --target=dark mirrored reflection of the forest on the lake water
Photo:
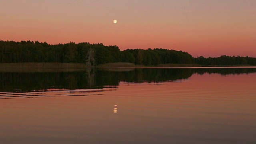
[[[192,74],[248,74],[256,68],[136,68],[131,71],[87,69],[75,72],[0,72],[0,91],[32,91],[48,88],[102,89],[126,82],[153,82],[188,79]]]

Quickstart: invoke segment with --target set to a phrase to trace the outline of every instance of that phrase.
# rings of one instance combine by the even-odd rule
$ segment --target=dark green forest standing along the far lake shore
[[[221,56],[219,58],[193,58],[187,52],[154,49],[127,49],[118,46],[104,46],[88,42],[67,44],[48,44],[33,41],[0,40],[0,63],[17,62],[59,62],[100,65],[113,62],[130,62],[136,65],[158,64],[201,64],[201,65],[245,65],[256,64],[256,58],[240,56]]]

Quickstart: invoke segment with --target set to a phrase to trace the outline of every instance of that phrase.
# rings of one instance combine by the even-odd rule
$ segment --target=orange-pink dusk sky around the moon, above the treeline
[[[256,57],[256,0],[0,0],[0,40]]]

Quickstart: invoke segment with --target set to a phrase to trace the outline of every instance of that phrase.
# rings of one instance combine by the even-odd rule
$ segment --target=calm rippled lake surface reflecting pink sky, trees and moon
[[[0,144],[254,144],[256,68],[0,69]]]

